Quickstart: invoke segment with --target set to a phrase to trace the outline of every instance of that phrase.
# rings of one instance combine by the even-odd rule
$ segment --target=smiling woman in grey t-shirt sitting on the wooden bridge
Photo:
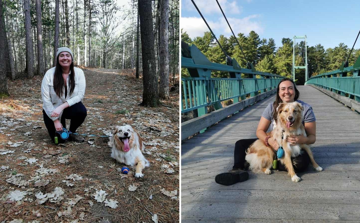
[[[255,139],[240,139],[235,143],[235,150],[234,150],[234,166],[232,170],[229,170],[228,173],[221,173],[216,175],[215,182],[222,184],[222,185],[232,185],[234,183],[243,182],[248,179],[249,174],[244,169],[247,169],[246,166],[248,163],[245,161],[245,151],[249,146],[255,142],[257,139],[260,139],[266,143],[269,143],[274,150],[278,150],[279,144],[273,138],[268,138],[268,134],[266,131],[269,129],[273,129],[273,121],[276,115],[276,108],[278,107],[279,103],[282,102],[294,102],[297,101],[302,104],[304,108],[304,116],[303,116],[303,124],[305,126],[305,131],[307,137],[303,135],[294,135],[292,137],[287,137],[287,141],[294,144],[313,144],[316,141],[316,123],[315,123],[315,115],[312,111],[312,108],[309,104],[298,100],[299,98],[299,91],[296,89],[296,85],[293,80],[285,78],[281,80],[278,84],[278,89],[276,93],[276,100],[274,103],[270,103],[266,108],[265,111],[262,113],[260,122],[256,129],[256,136]],[[310,163],[309,155],[306,152],[301,153],[297,157],[292,157],[292,162],[294,166],[294,170],[296,172],[301,172],[306,170],[307,166]],[[286,171],[285,167],[278,162],[278,170]]]

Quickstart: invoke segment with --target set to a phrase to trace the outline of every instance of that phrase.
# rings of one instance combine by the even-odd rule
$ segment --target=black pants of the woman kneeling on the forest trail
[[[49,116],[46,114],[44,110],[42,110],[42,115],[44,116],[44,123],[46,129],[48,129],[51,141],[54,142],[55,131],[56,131],[54,121],[49,118]],[[63,125],[63,127],[66,128],[65,120],[70,119],[70,128],[68,129],[68,131],[75,133],[76,129],[79,128],[82,122],[84,122],[86,115],[87,115],[87,111],[84,104],[78,102],[63,110],[60,122]],[[59,143],[64,142],[64,140],[61,139],[59,136],[58,136],[58,141]]]

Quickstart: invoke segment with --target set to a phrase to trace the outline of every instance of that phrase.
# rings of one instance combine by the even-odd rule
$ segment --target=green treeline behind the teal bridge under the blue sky
[[[354,34],[355,35],[355,34]],[[355,40],[354,36],[354,40]],[[288,37],[282,38],[282,46],[276,46],[274,39],[260,38],[255,32],[251,31],[248,35],[238,33],[237,39],[243,49],[247,59],[252,62],[257,71],[274,73],[281,76],[292,78],[292,55],[293,40]],[[236,43],[235,37],[229,38],[220,35],[218,40],[225,52],[237,60],[241,67],[246,67],[246,60]],[[181,41],[195,44],[206,57],[214,63],[225,64],[225,55],[220,46],[216,43],[211,32],[204,32],[203,36],[191,39],[186,31],[181,30]],[[350,53],[349,48],[344,43],[339,43],[334,48],[324,49],[320,43],[315,46],[307,45],[307,63],[309,76],[315,76],[339,69],[341,63],[346,60]],[[300,41],[295,44],[295,64],[305,66],[305,44]],[[352,66],[360,55],[360,49],[354,49],[349,57],[349,66]],[[296,84],[305,83],[305,69],[297,69]],[[212,72],[213,77],[228,77],[226,72]],[[186,69],[181,69],[181,77],[189,77]]]

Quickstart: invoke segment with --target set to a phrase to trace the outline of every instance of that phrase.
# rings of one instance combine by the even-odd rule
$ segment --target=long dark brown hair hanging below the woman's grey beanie
[[[71,64],[70,64],[70,92],[68,92],[68,95],[71,95],[75,88],[75,72],[74,72],[74,61],[73,58],[71,58]],[[63,70],[59,63],[59,56],[57,57],[57,63],[55,66],[55,73],[54,73],[54,90],[56,95],[60,98],[63,95],[63,89],[64,89],[64,79],[63,79]]]

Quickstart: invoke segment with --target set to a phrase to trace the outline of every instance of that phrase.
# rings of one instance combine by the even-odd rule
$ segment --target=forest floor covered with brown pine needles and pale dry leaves
[[[0,223],[179,222],[179,91],[141,107],[134,72],[83,69],[87,117],[78,133],[105,135],[130,124],[145,144],[144,178],[111,158],[107,137],[51,142],[42,117],[41,81],[8,81],[0,103]],[[67,120],[67,127],[69,120]]]

